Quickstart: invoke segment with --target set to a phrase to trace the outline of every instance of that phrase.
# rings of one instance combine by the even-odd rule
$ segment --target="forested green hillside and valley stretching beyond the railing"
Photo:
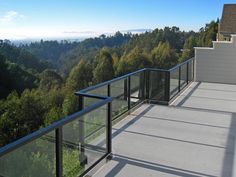
[[[101,35],[82,42],[0,41],[0,147],[77,111],[74,92],[144,67],[170,68],[211,46],[218,21],[199,32],[178,27]]]

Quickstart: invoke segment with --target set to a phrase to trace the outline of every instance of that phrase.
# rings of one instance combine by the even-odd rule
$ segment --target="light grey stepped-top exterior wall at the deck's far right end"
[[[195,48],[195,80],[236,84],[236,36],[215,41],[213,48]]]

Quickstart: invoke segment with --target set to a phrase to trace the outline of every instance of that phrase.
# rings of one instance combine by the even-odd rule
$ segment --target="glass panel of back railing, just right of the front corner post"
[[[128,110],[128,82],[127,78],[110,84],[112,101],[112,119]]]

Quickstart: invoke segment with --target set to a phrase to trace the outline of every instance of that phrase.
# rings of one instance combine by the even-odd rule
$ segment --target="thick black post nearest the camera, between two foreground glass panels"
[[[63,176],[63,150],[62,150],[62,127],[56,131],[56,177]]]

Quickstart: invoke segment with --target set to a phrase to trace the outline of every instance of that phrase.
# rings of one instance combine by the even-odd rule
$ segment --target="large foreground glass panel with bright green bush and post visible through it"
[[[106,135],[106,105],[63,126],[63,176],[79,176],[101,159],[107,152]]]

